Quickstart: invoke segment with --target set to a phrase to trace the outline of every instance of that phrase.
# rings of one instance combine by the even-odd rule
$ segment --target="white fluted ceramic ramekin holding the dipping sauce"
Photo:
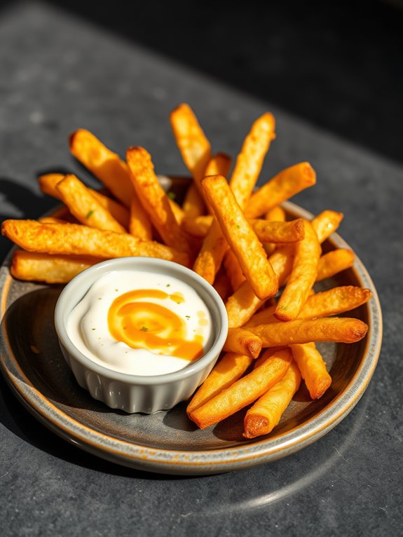
[[[99,365],[74,346],[67,334],[67,319],[91,285],[111,271],[139,270],[178,278],[191,285],[205,302],[212,316],[213,343],[195,362],[179,371],[139,376],[116,372]],[[123,257],[103,261],[78,274],[69,282],[56,304],[55,327],[62,353],[78,384],[97,400],[125,412],[151,414],[170,409],[188,399],[205,380],[219,357],[228,333],[228,318],[219,294],[203,278],[190,269],[171,261],[151,257]]]

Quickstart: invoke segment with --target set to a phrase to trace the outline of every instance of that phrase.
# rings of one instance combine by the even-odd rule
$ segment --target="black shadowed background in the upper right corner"
[[[403,161],[399,1],[48,4]]]

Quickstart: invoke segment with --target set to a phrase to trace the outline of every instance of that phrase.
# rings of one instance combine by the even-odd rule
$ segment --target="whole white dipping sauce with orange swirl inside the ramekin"
[[[90,360],[136,375],[182,369],[213,340],[210,312],[196,291],[144,271],[101,276],[71,311],[67,332]]]

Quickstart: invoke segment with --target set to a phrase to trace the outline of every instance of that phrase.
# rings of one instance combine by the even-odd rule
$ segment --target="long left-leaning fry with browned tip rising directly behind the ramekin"
[[[189,252],[188,240],[177,223],[168,196],[158,182],[149,153],[142,147],[130,147],[126,160],[137,196],[164,243]]]

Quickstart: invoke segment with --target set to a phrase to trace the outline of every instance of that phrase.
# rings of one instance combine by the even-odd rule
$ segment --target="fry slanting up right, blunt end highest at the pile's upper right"
[[[247,218],[257,218],[316,182],[315,170],[308,162],[290,166],[260,187],[245,208]]]

